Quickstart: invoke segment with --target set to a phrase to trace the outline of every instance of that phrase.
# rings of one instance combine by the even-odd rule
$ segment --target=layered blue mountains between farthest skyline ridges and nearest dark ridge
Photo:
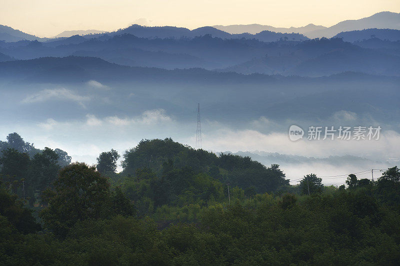
[[[280,36],[262,31],[259,38]],[[242,74],[263,73],[301,76],[325,76],[343,71],[378,75],[399,75],[400,43],[372,40],[344,42],[341,38],[293,41],[284,33],[274,42],[257,39],[222,39],[206,34],[193,38],[139,38],[131,34],[101,40],[71,36],[55,41],[0,43],[0,52],[15,59],[99,57],[127,66],[217,69]],[[82,41],[82,42],[81,42]],[[75,42],[75,43],[73,43]]]

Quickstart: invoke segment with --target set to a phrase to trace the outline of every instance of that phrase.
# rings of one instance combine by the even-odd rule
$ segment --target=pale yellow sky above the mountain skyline
[[[51,37],[64,30],[112,31],[133,23],[331,26],[380,11],[400,12],[400,0],[0,0],[0,24]]]

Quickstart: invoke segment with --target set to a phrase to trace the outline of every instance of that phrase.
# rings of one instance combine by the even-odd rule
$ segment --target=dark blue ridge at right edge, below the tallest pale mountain
[[[362,30],[352,30],[340,32],[334,36],[335,38],[342,38],[344,41],[354,42],[370,38],[379,38],[381,40],[400,40],[400,30],[387,29],[387,28],[368,28]]]

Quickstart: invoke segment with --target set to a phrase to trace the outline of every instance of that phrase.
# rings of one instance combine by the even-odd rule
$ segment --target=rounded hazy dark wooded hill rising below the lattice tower
[[[170,138],[142,140],[136,147],[126,151],[123,158],[122,175],[133,175],[137,169],[143,168],[149,168],[159,175],[172,169],[190,168],[194,175],[207,173],[223,184],[229,183],[232,187],[251,189],[257,193],[272,192],[289,184],[278,165],[267,168],[250,157],[223,153],[217,156],[184,146]]]

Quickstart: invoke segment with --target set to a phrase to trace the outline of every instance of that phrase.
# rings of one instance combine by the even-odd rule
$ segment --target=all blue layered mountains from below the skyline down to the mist
[[[51,108],[64,118],[65,108],[75,118],[82,114],[79,108],[98,115],[162,108],[184,116],[192,104],[187,99],[195,99],[206,104],[209,116],[227,122],[232,115],[248,121],[265,114],[321,121],[343,110],[388,121],[399,115],[399,32],[370,28],[308,39],[267,30],[231,34],[213,27],[132,25],[107,33],[0,41],[0,93],[19,99],[1,108],[14,108],[24,119],[27,102],[55,97],[34,115],[47,117]]]

